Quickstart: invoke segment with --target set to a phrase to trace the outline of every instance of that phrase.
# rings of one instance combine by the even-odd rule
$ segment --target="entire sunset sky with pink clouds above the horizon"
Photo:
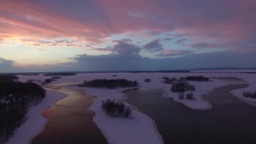
[[[255,0],[1,0],[0,73],[256,67]]]

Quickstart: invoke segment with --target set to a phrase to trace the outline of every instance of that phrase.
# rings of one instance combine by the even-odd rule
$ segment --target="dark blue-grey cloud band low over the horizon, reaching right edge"
[[[209,52],[196,54],[190,51],[167,51],[161,59],[143,58],[140,55],[78,55],[73,58],[72,66],[88,67],[84,70],[160,70],[160,69],[191,69],[207,67],[256,67],[256,52]],[[173,52],[173,53],[170,53]],[[168,53],[170,55],[168,55]],[[179,54],[178,54],[179,53]],[[175,57],[182,55],[185,56]],[[174,58],[175,57],[175,58]]]

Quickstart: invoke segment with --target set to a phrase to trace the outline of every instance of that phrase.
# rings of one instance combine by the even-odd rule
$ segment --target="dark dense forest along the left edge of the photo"
[[[0,143],[25,120],[30,106],[45,98],[46,91],[35,83],[19,82],[13,75],[0,75]]]

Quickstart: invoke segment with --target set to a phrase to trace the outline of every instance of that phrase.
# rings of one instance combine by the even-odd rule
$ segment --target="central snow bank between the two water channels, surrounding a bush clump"
[[[125,98],[121,93],[125,89],[99,89],[70,86],[71,89],[82,89],[86,95],[98,95],[90,110],[95,111],[93,121],[102,131],[109,144],[163,144],[162,137],[154,125],[154,121],[140,111],[132,109],[131,118],[112,118],[101,109],[102,100]],[[125,103],[125,105],[129,105]]]

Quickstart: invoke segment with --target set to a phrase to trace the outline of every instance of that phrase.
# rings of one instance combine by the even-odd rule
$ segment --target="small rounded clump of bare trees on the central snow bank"
[[[112,117],[131,117],[131,108],[126,106],[123,101],[102,101],[101,108],[105,113]]]

